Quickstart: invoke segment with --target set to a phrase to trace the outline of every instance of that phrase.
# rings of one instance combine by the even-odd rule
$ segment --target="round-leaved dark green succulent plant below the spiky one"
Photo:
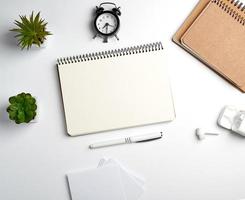
[[[16,124],[29,123],[36,117],[36,99],[29,93],[20,93],[9,98],[10,105],[7,108],[9,119]]]

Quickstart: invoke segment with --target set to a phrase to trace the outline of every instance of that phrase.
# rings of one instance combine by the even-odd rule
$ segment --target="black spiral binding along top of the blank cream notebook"
[[[119,56],[131,55],[131,54],[158,51],[162,49],[163,49],[162,43],[155,42],[155,43],[144,44],[144,45],[128,47],[128,48],[102,51],[102,52],[97,52],[97,53],[89,53],[89,54],[71,56],[71,57],[66,57],[66,58],[59,58],[57,59],[57,64],[65,65],[65,64],[70,64],[70,63],[79,63],[79,62],[86,62],[90,60],[99,60],[99,59],[104,59],[104,58],[119,57]]]

